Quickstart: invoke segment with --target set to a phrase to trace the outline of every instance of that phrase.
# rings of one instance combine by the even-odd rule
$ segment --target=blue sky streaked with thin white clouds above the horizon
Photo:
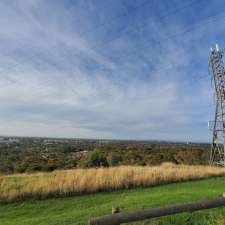
[[[1,0],[0,135],[210,141],[224,0]]]

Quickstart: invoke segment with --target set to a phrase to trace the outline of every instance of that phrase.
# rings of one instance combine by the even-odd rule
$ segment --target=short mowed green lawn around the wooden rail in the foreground
[[[0,225],[88,224],[91,217],[111,213],[112,206],[118,206],[122,212],[128,212],[214,198],[221,196],[224,191],[225,178],[220,177],[111,193],[1,204]],[[168,216],[141,224],[223,225],[225,224],[225,207]]]

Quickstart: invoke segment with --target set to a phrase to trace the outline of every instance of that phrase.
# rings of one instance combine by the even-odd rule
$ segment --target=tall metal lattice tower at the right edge
[[[209,127],[212,130],[210,164],[225,166],[225,67],[224,50],[218,45],[211,49],[209,66],[215,97],[215,117]]]

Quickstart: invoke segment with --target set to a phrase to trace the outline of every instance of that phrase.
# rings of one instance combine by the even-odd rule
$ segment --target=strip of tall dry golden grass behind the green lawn
[[[164,163],[154,167],[119,166],[4,176],[0,178],[0,201],[44,199],[223,175],[223,168]]]

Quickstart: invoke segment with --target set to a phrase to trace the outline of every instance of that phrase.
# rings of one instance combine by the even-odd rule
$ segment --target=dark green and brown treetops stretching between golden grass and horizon
[[[0,142],[0,173],[32,173],[86,167],[207,165],[207,144],[19,138]]]

